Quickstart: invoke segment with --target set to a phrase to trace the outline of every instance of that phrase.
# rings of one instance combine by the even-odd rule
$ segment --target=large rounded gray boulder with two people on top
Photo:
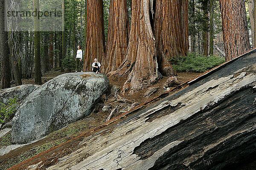
[[[108,88],[102,74],[62,74],[32,92],[12,120],[12,143],[24,144],[76,122],[90,113]]]

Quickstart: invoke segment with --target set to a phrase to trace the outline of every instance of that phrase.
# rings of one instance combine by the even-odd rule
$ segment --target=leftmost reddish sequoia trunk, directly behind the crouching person
[[[92,70],[94,58],[99,62],[105,58],[105,34],[103,22],[103,0],[87,0],[87,37],[84,52],[84,71]],[[106,65],[102,65],[102,68]]]

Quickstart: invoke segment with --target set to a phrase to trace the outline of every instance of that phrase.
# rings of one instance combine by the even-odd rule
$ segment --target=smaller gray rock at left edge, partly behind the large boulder
[[[40,85],[19,85],[13,88],[0,90],[0,102],[6,104],[9,99],[17,97],[17,101],[23,100]]]

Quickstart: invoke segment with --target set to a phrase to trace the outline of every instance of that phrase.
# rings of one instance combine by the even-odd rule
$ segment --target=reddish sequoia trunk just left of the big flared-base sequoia
[[[128,47],[130,26],[127,13],[127,0],[111,0],[109,6],[107,60],[105,69],[108,73],[116,71],[121,65]],[[107,63],[108,62],[108,63]]]

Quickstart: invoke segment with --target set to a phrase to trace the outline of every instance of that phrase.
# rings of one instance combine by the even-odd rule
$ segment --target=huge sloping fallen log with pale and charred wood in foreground
[[[255,50],[182,87],[12,169],[234,170],[255,160]]]

